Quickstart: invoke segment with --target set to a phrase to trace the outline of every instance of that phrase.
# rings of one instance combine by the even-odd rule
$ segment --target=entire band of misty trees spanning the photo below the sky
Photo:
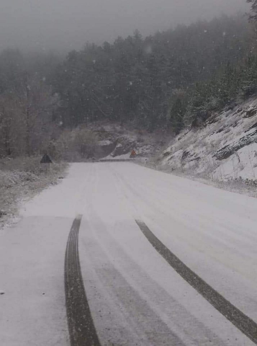
[[[3,51],[0,156],[58,152],[71,141],[69,129],[101,119],[175,133],[197,126],[213,110],[256,92],[255,45],[246,17],[224,16],[145,38],[135,31],[113,44],[87,44],[64,61]],[[85,151],[92,136],[83,131],[76,133]]]

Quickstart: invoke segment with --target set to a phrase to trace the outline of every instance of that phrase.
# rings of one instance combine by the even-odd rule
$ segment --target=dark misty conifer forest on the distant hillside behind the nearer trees
[[[173,126],[173,113],[181,108],[184,114],[195,83],[210,80],[228,62],[237,64],[252,43],[247,18],[239,16],[146,38],[135,31],[113,44],[70,52],[53,79],[64,124],[105,118],[149,130]]]

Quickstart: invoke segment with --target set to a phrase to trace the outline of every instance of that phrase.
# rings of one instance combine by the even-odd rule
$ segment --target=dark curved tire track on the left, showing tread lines
[[[71,346],[101,346],[86,298],[78,254],[78,232],[82,215],[70,229],[64,265],[66,311]]]

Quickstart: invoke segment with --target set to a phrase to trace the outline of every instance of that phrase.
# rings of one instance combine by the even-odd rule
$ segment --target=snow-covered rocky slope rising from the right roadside
[[[171,170],[217,180],[257,179],[257,99],[183,130],[160,157]]]

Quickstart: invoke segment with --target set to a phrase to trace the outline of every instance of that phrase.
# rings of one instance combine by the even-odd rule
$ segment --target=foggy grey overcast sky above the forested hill
[[[0,0],[0,50],[79,49],[139,29],[146,36],[177,24],[245,12],[246,0]]]

